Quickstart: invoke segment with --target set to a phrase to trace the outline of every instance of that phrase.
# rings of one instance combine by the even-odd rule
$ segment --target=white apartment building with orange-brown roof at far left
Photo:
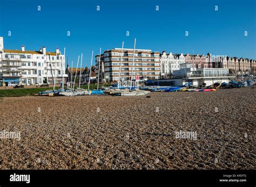
[[[21,50],[5,49],[3,37],[0,37],[1,86],[52,84],[52,75],[56,83],[62,81],[62,76],[68,76],[65,74],[65,56],[58,48],[56,52],[46,52],[46,47],[39,51],[26,51],[24,46]]]

